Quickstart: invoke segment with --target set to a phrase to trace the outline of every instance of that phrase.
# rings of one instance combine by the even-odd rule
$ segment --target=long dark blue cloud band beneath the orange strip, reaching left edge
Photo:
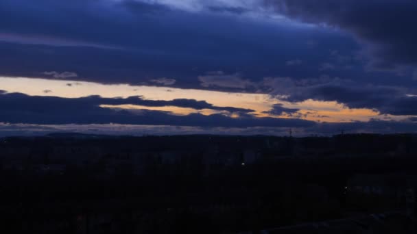
[[[51,96],[27,96],[25,94],[0,95],[0,122],[26,123],[38,125],[64,124],[108,124],[123,125],[172,125],[192,127],[308,127],[315,125],[307,120],[291,120],[280,118],[255,118],[243,113],[243,117],[231,118],[222,114],[204,116],[189,114],[174,116],[168,112],[150,110],[118,110],[102,108],[99,105],[120,105],[139,102],[137,97],[128,99],[104,99],[89,96],[80,99],[63,99]],[[147,101],[143,101],[146,103]],[[152,101],[148,105],[163,101]],[[143,104],[141,103],[141,104]],[[164,105],[193,106],[205,108],[207,103],[190,100],[174,100]],[[134,103],[138,104],[138,103]],[[197,105],[195,105],[197,104]],[[218,107],[222,108],[222,107]],[[227,107],[225,107],[227,108]],[[236,108],[233,108],[236,110]]]

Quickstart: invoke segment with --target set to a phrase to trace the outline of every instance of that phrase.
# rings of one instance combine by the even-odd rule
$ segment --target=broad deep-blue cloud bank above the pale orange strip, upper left
[[[213,71],[250,81],[318,76],[331,50],[346,55],[357,48],[331,30],[214,9],[185,12],[126,0],[3,0],[0,75],[53,78],[45,71],[71,72],[76,80],[152,85],[169,77],[176,80],[169,86],[224,90],[200,86],[197,77]],[[286,66],[295,58],[302,66]]]

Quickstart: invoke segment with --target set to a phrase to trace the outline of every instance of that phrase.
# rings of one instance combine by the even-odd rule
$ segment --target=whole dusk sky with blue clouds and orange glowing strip
[[[417,132],[415,0],[1,0],[0,136]]]

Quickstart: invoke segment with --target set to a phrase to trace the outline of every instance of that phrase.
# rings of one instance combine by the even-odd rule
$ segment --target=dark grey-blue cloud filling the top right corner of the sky
[[[372,65],[417,65],[417,1],[265,0],[290,18],[346,29],[368,43]]]

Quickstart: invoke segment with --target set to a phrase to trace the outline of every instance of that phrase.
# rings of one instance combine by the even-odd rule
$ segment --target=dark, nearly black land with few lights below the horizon
[[[417,135],[0,141],[1,233],[417,233]]]

